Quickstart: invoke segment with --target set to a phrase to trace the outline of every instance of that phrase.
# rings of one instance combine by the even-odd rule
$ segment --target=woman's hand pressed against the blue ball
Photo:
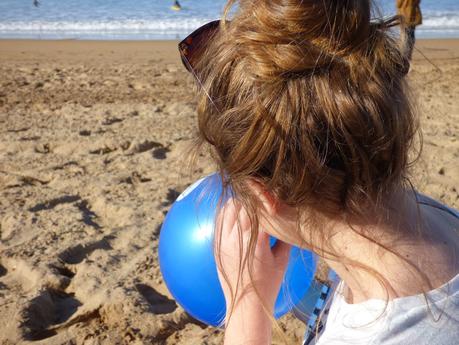
[[[255,314],[268,311],[272,315],[291,247],[278,240],[271,248],[269,235],[260,230],[254,239],[250,276],[249,267],[242,266],[242,262],[251,237],[247,211],[236,199],[229,199],[217,217],[216,230],[216,262],[227,311],[238,313],[244,310],[245,313]]]

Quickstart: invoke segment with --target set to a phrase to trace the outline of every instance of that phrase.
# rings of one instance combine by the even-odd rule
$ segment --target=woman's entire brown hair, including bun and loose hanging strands
[[[294,207],[301,222],[322,225],[309,234],[321,242],[298,231],[304,247],[338,258],[324,249],[321,215],[365,219],[409,181],[417,120],[404,78],[409,63],[390,31],[398,19],[371,21],[363,0],[238,5],[195,72],[198,147],[210,144],[252,220],[241,267],[250,270],[259,224],[248,178]]]

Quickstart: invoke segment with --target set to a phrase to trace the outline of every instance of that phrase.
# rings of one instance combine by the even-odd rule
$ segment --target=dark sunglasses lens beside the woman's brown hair
[[[193,31],[182,42],[179,43],[179,52],[185,68],[193,73],[196,63],[201,59],[207,42],[217,33],[220,20],[214,20]]]

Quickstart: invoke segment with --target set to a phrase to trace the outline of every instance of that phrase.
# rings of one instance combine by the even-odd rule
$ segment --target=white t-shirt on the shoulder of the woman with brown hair
[[[316,345],[459,344],[459,274],[427,293],[430,311],[420,294],[390,301],[381,315],[384,301],[348,304],[342,287],[340,283]]]

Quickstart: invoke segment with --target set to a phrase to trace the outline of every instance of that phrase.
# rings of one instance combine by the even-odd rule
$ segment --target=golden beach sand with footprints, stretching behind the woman
[[[158,267],[185,165],[194,83],[177,42],[0,41],[0,344],[219,344]],[[459,41],[419,41],[422,192],[459,207]],[[288,343],[304,325],[280,322]],[[275,344],[280,343],[277,337]]]

